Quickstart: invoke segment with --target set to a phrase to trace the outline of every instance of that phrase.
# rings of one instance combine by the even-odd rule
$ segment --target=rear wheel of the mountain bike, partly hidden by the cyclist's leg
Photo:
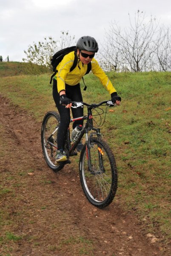
[[[43,118],[41,129],[41,143],[43,156],[48,166],[54,171],[58,172],[63,169],[64,163],[57,163],[55,154],[57,149],[48,144],[48,137],[60,124],[60,115],[56,111],[49,111]],[[51,142],[57,147],[57,132],[51,138]]]

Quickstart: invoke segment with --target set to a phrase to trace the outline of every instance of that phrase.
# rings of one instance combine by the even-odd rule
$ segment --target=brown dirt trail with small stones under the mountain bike
[[[118,198],[105,209],[89,204],[81,189],[77,167],[67,165],[58,173],[52,172],[42,156],[41,124],[2,96],[0,123],[6,130],[6,138],[10,138],[8,148],[12,153],[11,157],[6,152],[0,158],[1,172],[13,176],[19,169],[26,172],[20,180],[22,186],[15,188],[18,201],[11,201],[13,232],[23,239],[13,244],[10,255],[162,255],[160,244],[150,243],[142,224],[133,213],[123,210]],[[33,175],[28,175],[30,172]],[[12,186],[10,182],[7,180],[6,186]],[[2,207],[5,203],[2,201]],[[74,237],[84,239],[76,241]],[[92,243],[88,245],[88,241]],[[84,250],[80,251],[83,244]],[[93,254],[88,253],[88,246],[91,252],[93,248]],[[0,253],[7,255],[4,248],[0,248]]]

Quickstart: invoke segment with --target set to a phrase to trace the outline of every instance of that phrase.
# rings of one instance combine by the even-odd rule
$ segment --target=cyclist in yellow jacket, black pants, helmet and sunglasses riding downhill
[[[120,104],[121,97],[117,92],[108,76],[101,69],[98,62],[95,60],[95,52],[98,51],[97,41],[91,36],[83,36],[77,41],[77,66],[70,72],[74,61],[74,51],[64,56],[63,60],[58,64],[58,73],[53,79],[53,98],[60,113],[60,125],[57,131],[57,154],[56,162],[66,161],[67,156],[63,151],[66,131],[71,119],[70,108],[71,101],[82,102],[82,94],[80,90],[80,80],[85,75],[88,63],[91,62],[91,71],[97,76],[103,86],[111,95],[111,100],[117,105]],[[73,118],[83,116],[83,108],[71,108]],[[73,129],[77,125],[83,125],[83,120],[73,123]],[[77,146],[77,151],[82,149],[82,144]]]

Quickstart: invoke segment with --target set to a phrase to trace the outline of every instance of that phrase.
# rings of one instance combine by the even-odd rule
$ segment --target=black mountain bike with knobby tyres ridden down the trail
[[[105,111],[100,106],[106,107]],[[68,159],[65,162],[56,163],[57,130],[60,124],[60,115],[56,111],[49,111],[44,116],[41,129],[41,143],[43,155],[48,166],[58,172],[71,163],[70,157],[77,155],[77,145],[85,140],[80,153],[79,174],[83,192],[88,201],[96,207],[103,208],[111,204],[117,191],[117,167],[114,154],[108,144],[102,139],[100,128],[101,115],[107,112],[107,106],[114,106],[111,101],[103,101],[98,104],[85,102],[72,102],[72,108],[87,108],[87,115],[71,118],[71,122],[85,120],[80,134],[74,143],[71,142],[70,128],[66,133],[64,152]],[[94,116],[100,116],[100,125],[94,125]],[[95,122],[96,123],[96,122]],[[102,124],[102,125],[101,125]],[[97,127],[94,127],[96,126]]]

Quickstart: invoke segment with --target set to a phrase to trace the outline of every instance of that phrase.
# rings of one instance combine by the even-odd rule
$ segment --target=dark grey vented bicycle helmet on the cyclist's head
[[[88,52],[98,52],[98,44],[97,41],[91,36],[82,36],[77,41],[77,49],[85,50]]]

